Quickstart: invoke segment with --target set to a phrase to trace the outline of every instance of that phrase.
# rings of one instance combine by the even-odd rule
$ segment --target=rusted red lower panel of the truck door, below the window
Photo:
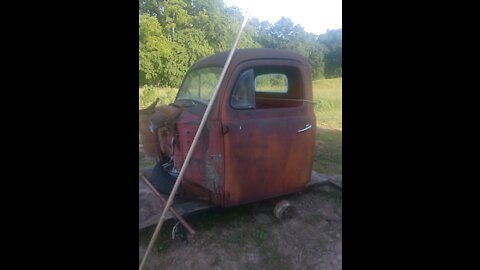
[[[265,117],[265,118],[264,118]],[[298,134],[311,118],[292,116],[226,122],[225,205],[254,202],[302,190],[310,179],[313,131]]]

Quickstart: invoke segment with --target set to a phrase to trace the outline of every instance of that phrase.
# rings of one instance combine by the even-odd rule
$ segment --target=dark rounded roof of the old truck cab
[[[206,66],[223,66],[227,60],[229,51],[216,53],[198,60],[193,64],[190,69],[196,69]],[[246,61],[246,60],[258,60],[258,59],[288,59],[296,60],[302,62],[303,64],[308,65],[307,59],[298,53],[284,49],[267,49],[267,48],[248,48],[248,49],[237,49],[233,53],[232,61],[230,62],[231,66],[236,66],[237,64]]]

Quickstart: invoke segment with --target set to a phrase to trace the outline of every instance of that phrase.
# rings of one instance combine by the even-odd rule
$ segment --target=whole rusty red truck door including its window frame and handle
[[[302,190],[316,131],[308,69],[294,60],[255,60],[229,78],[221,113],[225,206]]]

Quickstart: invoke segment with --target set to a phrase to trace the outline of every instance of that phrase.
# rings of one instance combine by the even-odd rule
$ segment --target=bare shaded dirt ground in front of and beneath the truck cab
[[[288,199],[293,216],[279,220],[275,203]],[[172,240],[164,224],[145,269],[342,269],[342,193],[330,186],[187,217],[196,234]],[[139,232],[139,262],[154,226]]]

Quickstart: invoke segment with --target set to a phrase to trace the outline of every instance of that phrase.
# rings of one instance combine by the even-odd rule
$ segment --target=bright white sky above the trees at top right
[[[277,22],[286,17],[300,24],[306,32],[324,34],[327,29],[342,28],[342,0],[223,0],[237,6],[260,21]]]

